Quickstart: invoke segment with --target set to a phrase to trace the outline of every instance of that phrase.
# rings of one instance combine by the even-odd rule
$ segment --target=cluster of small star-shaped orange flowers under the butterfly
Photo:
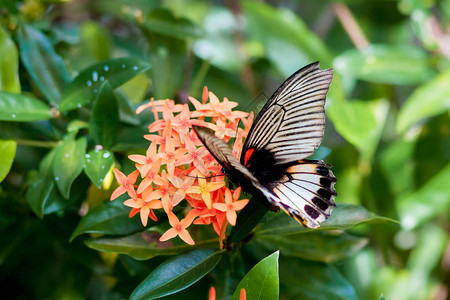
[[[160,241],[179,236],[193,245],[186,229],[191,224],[212,224],[222,245],[227,224],[236,224],[236,211],[244,208],[248,199],[239,200],[241,189],[228,189],[224,176],[212,176],[220,174],[221,166],[198,139],[192,125],[208,127],[226,142],[236,137],[233,154],[238,157],[253,113],[233,111],[236,102],[227,98],[221,102],[206,88],[202,102],[192,97],[189,100],[195,107],[193,112],[187,104],[175,104],[173,100],[150,101],[138,108],[137,113],[150,108],[155,116],[155,122],[148,128],[151,134],[144,136],[150,146],[146,155],[128,157],[136,166],[128,176],[114,169],[120,186],[111,200],[126,192],[130,199],[124,204],[131,207],[130,218],[139,213],[144,226],[149,217],[157,221],[153,210],[164,209],[172,228]],[[244,129],[238,128],[240,121]],[[142,180],[136,185],[139,176]],[[187,209],[179,220],[173,209],[183,200],[187,205],[180,207]]]

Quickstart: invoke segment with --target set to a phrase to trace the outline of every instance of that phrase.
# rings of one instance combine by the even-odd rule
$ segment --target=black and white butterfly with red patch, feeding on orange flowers
[[[332,78],[332,69],[320,70],[315,62],[283,82],[253,122],[239,160],[210,129],[193,126],[231,182],[309,228],[319,227],[336,206],[331,166],[306,159],[322,142]]]

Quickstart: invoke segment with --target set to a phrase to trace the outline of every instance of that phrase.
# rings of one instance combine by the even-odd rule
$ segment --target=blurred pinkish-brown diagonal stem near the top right
[[[367,47],[369,41],[364,36],[361,27],[356,23],[355,17],[353,17],[348,7],[342,3],[335,3],[333,4],[333,10],[356,48],[361,50]]]

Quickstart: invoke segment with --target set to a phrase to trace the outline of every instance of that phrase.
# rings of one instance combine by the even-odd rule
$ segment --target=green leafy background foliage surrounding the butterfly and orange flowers
[[[4,296],[445,299],[449,26],[449,0],[1,1]],[[313,61],[334,68],[318,155],[339,203],[319,230],[271,213],[230,251],[207,230],[167,247],[163,217],[108,201],[148,146],[138,104],[207,85],[248,110]]]

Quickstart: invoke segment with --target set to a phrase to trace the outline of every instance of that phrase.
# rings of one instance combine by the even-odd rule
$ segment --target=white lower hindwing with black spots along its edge
[[[289,166],[281,179],[269,184],[263,193],[303,226],[317,228],[328,219],[332,206],[336,206],[335,182],[328,165],[302,160]]]

